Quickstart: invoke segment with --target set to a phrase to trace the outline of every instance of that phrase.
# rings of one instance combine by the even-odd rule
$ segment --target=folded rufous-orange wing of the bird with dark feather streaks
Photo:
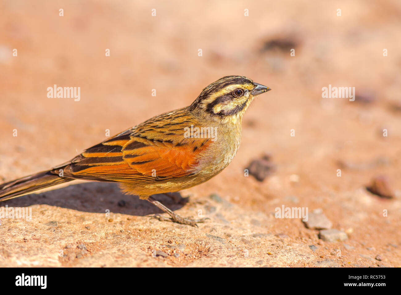
[[[63,176],[132,183],[190,175],[211,139],[186,138],[183,119],[162,126],[147,121],[92,146],[65,163]],[[59,168],[53,173],[59,173]]]

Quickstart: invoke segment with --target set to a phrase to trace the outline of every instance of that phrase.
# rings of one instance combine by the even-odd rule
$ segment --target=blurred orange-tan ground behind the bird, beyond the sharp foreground
[[[401,245],[400,1],[3,0],[0,27],[3,180],[64,163],[106,129],[117,134],[244,75],[272,91],[245,114],[231,165],[183,195],[219,193],[268,214],[283,203],[320,208],[354,247]],[[80,87],[80,100],[48,98],[54,84]],[[322,98],[329,84],[355,87],[355,101]],[[263,155],[274,171],[244,177]],[[391,198],[367,191],[375,181]],[[299,220],[269,226],[310,235]],[[400,266],[399,247],[390,250],[388,264]]]

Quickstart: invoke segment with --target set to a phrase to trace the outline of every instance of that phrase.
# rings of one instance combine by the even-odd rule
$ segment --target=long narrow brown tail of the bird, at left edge
[[[26,177],[0,184],[0,201],[5,201],[45,187],[64,183],[74,179],[59,177],[51,171],[42,171]]]

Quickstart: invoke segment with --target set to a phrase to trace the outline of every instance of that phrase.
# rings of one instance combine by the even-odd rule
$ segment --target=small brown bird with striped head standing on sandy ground
[[[270,88],[243,76],[223,77],[185,108],[155,116],[86,149],[71,161],[0,184],[0,201],[74,179],[117,182],[170,215],[159,220],[197,226],[152,197],[193,187],[220,173],[241,142],[242,117]]]

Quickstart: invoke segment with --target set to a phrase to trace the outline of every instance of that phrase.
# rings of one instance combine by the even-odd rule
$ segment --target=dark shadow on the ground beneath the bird
[[[172,194],[177,197],[178,202],[163,194],[153,195],[153,197],[173,211],[182,208],[187,198],[182,198],[180,193]],[[35,204],[47,204],[94,213],[105,213],[109,210],[113,213],[136,216],[164,213],[152,203],[140,199],[136,195],[125,195],[116,183],[107,182],[79,183],[43,193],[32,193],[3,201],[0,203],[0,207],[5,205],[27,207]]]

